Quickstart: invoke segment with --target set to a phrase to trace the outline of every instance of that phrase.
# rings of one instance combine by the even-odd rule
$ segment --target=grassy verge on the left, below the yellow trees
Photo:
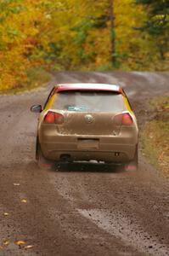
[[[48,73],[43,67],[31,67],[26,71],[26,75],[26,82],[23,82],[16,88],[0,90],[0,94],[13,95],[20,92],[34,90],[37,87],[48,83],[52,77],[51,74]]]

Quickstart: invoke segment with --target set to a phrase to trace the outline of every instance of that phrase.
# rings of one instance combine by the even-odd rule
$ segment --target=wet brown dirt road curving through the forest
[[[169,255],[169,181],[141,153],[138,172],[96,163],[37,168],[29,109],[54,83],[79,81],[124,86],[140,125],[149,97],[169,91],[167,73],[58,73],[40,90],[0,96],[0,255]]]

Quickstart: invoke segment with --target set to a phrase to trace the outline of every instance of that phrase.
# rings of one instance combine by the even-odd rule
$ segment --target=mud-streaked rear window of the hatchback
[[[76,112],[121,112],[125,110],[121,94],[109,91],[62,91],[56,95],[53,107]]]

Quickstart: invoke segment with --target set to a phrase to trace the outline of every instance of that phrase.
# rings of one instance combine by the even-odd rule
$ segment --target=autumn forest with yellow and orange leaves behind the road
[[[168,0],[0,0],[0,90],[34,73],[167,71]]]

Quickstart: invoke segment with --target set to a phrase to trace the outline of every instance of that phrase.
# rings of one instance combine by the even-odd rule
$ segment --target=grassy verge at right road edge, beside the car
[[[149,108],[155,115],[141,131],[143,152],[151,164],[169,177],[169,96],[155,98]]]

